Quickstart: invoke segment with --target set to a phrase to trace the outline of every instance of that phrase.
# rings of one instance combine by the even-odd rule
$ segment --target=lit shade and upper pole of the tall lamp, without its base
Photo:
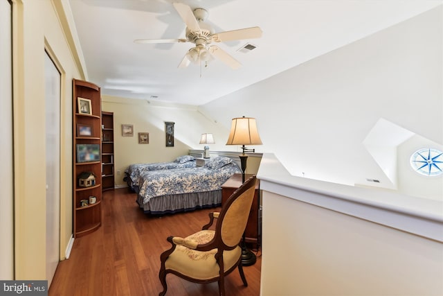
[[[245,116],[233,119],[226,145],[242,145],[243,153],[239,157],[242,163],[242,180],[244,182],[246,162],[248,161],[248,155],[245,152],[255,152],[255,149],[248,149],[245,145],[262,145],[255,119]]]

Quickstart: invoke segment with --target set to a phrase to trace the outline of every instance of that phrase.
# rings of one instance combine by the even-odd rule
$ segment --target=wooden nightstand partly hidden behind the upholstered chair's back
[[[246,174],[245,180],[253,175]],[[234,174],[223,185],[221,185],[221,205],[228,200],[231,194],[242,185],[242,174]],[[260,209],[260,180],[257,180],[255,185],[254,200],[252,202],[251,211],[249,212],[248,224],[244,234],[246,236],[246,243],[252,243],[253,247],[260,247],[260,225],[258,223]]]

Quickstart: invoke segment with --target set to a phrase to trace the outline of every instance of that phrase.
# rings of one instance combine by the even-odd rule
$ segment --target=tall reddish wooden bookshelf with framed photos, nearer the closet
[[[73,79],[74,237],[89,234],[102,223],[101,114],[100,87]],[[81,186],[80,175],[88,174],[94,175],[95,180]],[[90,198],[95,202],[89,203]]]

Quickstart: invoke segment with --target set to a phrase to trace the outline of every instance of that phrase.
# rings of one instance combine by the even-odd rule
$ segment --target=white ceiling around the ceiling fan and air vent
[[[260,39],[217,44],[242,63],[177,66],[191,43],[172,0],[69,0],[87,68],[102,94],[203,105],[442,3],[426,0],[181,0],[205,8],[215,32],[260,26]],[[237,51],[247,43],[257,46]]]

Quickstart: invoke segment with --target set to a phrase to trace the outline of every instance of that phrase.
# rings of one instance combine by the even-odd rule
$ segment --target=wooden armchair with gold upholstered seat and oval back
[[[166,275],[172,273],[196,283],[218,281],[219,295],[224,291],[224,277],[237,267],[244,286],[248,286],[242,268],[242,240],[254,198],[256,177],[250,177],[230,195],[221,211],[209,214],[210,221],[201,231],[186,238],[169,236],[170,250],[160,256],[159,278],[163,285],[160,296],[168,286]],[[208,229],[217,218],[215,230]]]

